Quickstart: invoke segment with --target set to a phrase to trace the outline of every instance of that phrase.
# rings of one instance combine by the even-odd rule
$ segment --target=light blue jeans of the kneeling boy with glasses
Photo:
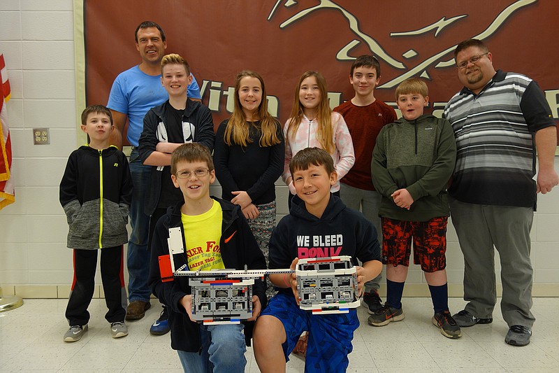
[[[184,372],[242,373],[247,359],[243,324],[198,325],[201,353],[179,351]]]

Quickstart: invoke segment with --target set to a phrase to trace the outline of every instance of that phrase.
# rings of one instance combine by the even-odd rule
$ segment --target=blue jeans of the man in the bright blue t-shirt
[[[150,251],[147,250],[147,235],[150,231],[150,217],[144,213],[145,197],[150,185],[151,166],[144,166],[134,148],[130,154],[130,174],[132,175],[133,194],[130,205],[130,225],[132,234],[128,242],[128,299],[130,302],[150,301],[152,294],[147,286],[150,276]]]

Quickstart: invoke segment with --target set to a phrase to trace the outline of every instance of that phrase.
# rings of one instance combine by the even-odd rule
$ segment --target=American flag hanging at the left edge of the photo
[[[8,113],[6,102],[10,99],[10,81],[4,56],[0,53],[0,210],[8,204],[15,202],[13,178],[11,178],[12,143],[10,141],[10,128],[8,127]]]

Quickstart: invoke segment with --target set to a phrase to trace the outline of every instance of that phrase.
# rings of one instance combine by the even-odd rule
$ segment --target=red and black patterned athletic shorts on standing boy
[[[382,218],[382,262],[409,267],[412,238],[414,264],[424,272],[447,267],[447,216],[428,221],[402,221]]]

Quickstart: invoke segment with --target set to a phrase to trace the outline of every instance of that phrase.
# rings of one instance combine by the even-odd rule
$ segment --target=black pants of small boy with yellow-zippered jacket
[[[85,325],[89,322],[87,307],[92,301],[97,268],[97,250],[73,251],[74,279],[66,318],[72,325]],[[126,289],[124,288],[124,258],[121,246],[101,248],[101,279],[105,302],[106,320],[109,323],[124,321],[126,316]]]

